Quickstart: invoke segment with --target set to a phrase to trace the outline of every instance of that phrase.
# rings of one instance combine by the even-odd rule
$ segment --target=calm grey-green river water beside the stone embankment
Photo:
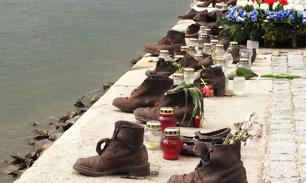
[[[0,159],[32,151],[33,130],[130,70],[129,60],[162,38],[189,3],[0,0]],[[0,173],[0,182],[12,181]]]

